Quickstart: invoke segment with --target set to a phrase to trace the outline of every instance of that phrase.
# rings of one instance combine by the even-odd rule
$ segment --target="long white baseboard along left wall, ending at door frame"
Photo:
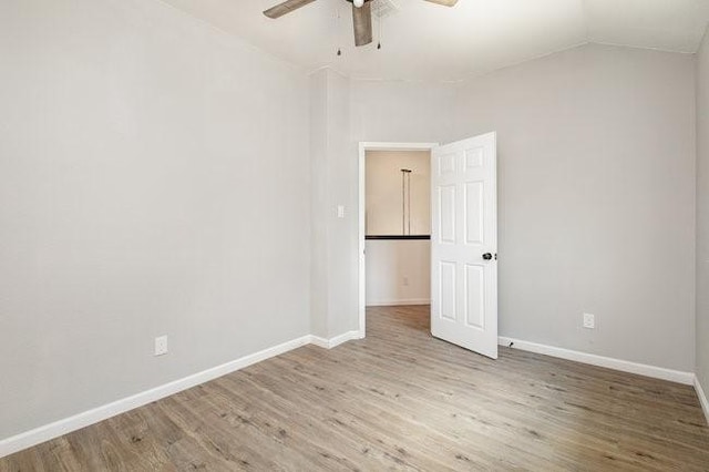
[[[360,337],[361,336],[359,331],[349,331],[332,339],[318,338],[311,335],[292,339],[281,345],[274,346],[256,353],[223,363],[222,366],[213,367],[210,369],[203,370],[202,372],[187,376],[179,380],[175,380],[173,382],[145,390],[132,397],[116,400],[112,403],[103,404],[92,410],[74,414],[73,417],[64,418],[53,423],[2,439],[0,440],[0,458],[4,458],[6,455],[13,454],[16,452],[22,451],[23,449],[31,448],[54,438],[59,438],[72,431],[80,430],[90,424],[107,420],[109,418],[115,417],[116,414],[121,414],[150,402],[169,397],[171,394],[175,394],[201,383],[208,382],[209,380],[226,376],[227,373],[235,372],[254,363],[288,352],[292,349],[297,349],[310,343],[323,347],[326,349],[331,349],[336,346],[341,345],[342,342],[349,341],[351,339],[359,339]]]

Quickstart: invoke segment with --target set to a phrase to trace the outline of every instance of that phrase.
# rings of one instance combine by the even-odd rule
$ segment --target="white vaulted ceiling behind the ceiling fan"
[[[354,48],[345,0],[277,20],[261,11],[279,0],[164,1],[305,69],[360,79],[460,80],[586,42],[693,53],[709,21],[709,0],[393,0],[377,50],[377,22],[374,43]]]

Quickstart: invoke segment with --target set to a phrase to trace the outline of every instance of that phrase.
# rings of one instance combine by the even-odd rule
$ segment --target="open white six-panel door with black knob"
[[[431,332],[496,359],[496,135],[435,147],[431,165]]]

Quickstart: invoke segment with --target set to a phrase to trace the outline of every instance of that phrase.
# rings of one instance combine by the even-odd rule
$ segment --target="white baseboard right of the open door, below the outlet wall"
[[[523,351],[542,353],[566,360],[574,360],[576,362],[589,363],[592,366],[605,367],[608,369],[620,370],[623,372],[637,373],[639,376],[653,377],[655,379],[669,380],[670,382],[684,383],[686,386],[695,384],[693,372],[682,372],[680,370],[671,370],[662,367],[630,362],[628,360],[620,360],[587,352],[573,351],[571,349],[556,348],[554,346],[540,345],[530,341],[522,341],[520,339],[505,337],[499,338],[500,346],[510,346],[510,342],[514,342],[513,349],[522,349]]]

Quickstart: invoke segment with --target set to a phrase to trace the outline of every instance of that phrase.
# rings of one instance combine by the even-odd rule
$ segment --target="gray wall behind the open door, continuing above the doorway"
[[[460,84],[350,88],[353,141],[499,132],[501,336],[693,370],[691,55],[585,45]]]

